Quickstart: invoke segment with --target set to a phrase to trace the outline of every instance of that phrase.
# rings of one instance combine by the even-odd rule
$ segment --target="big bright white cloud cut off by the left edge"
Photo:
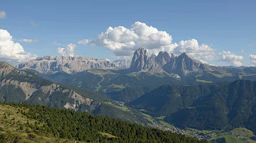
[[[0,29],[0,60],[17,64],[36,57],[36,55],[25,52],[20,43],[14,42],[7,30]]]

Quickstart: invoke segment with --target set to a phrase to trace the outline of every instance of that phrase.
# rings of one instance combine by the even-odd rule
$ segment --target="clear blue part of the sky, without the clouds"
[[[58,47],[73,43],[77,46],[75,55],[114,60],[117,54],[110,47],[80,45],[78,41],[94,40],[110,26],[131,29],[139,21],[166,31],[172,43],[193,38],[199,46],[208,45],[215,50],[215,58],[223,50],[230,51],[230,59],[206,61],[209,64],[235,65],[230,60],[236,60],[246,65],[252,61],[249,55],[256,55],[255,6],[253,0],[1,1],[0,11],[6,16],[0,19],[0,29],[7,30],[26,52],[38,56],[59,55]],[[27,43],[23,39],[38,41]]]

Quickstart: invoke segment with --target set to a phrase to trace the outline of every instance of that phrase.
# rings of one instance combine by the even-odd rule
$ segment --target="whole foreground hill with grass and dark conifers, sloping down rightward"
[[[200,142],[176,133],[42,105],[0,105],[1,142]]]

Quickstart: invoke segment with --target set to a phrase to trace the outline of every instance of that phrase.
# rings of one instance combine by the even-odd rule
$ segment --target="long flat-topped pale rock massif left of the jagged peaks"
[[[94,59],[92,57],[63,57],[44,56],[29,62],[18,64],[18,69],[33,69],[41,74],[52,74],[63,71],[74,74],[87,69],[112,69],[115,64],[106,59]]]

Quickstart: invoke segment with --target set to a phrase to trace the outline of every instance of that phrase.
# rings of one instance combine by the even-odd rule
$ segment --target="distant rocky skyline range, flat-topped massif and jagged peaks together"
[[[157,56],[149,56],[144,48],[139,48],[134,52],[132,61],[120,59],[110,62],[107,59],[94,59],[92,57],[44,56],[18,64],[16,68],[36,71],[40,74],[55,74],[56,72],[75,74],[88,69],[113,69],[116,71],[126,69],[122,73],[149,72],[156,74],[166,72],[176,75],[176,77],[203,73],[223,76],[230,76],[230,74],[232,74],[231,76],[243,76],[256,73],[256,67],[215,67],[203,64],[186,53],[175,56],[174,54],[169,55],[167,52],[159,52]]]

